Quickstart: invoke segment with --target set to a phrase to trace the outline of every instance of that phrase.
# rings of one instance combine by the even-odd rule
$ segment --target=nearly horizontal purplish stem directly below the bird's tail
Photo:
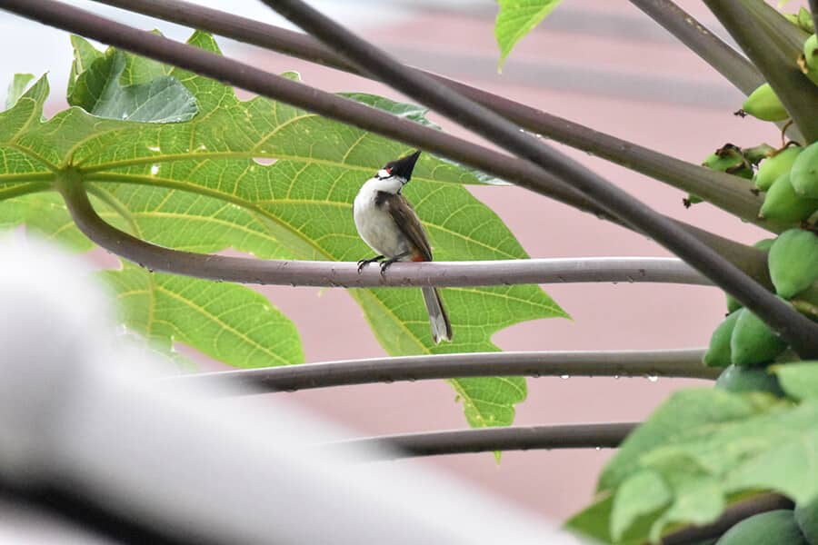
[[[185,374],[179,386],[218,386],[224,395],[299,391],[374,382],[464,377],[657,377],[715,380],[704,349],[611,352],[476,352],[304,363],[264,369]],[[221,391],[220,390],[220,391]]]

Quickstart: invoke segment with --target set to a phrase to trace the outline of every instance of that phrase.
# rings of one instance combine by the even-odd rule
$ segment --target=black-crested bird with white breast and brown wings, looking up
[[[358,262],[358,272],[369,263],[380,262],[381,274],[399,261],[430,262],[432,247],[417,213],[401,193],[412,179],[414,163],[421,152],[391,161],[361,186],[355,196],[353,216],[355,228],[370,248],[377,253]],[[452,323],[446,314],[440,292],[433,286],[422,288],[432,339],[437,344],[452,340]]]

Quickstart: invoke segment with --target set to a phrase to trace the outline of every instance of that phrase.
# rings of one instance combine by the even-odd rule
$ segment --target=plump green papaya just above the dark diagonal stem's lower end
[[[775,292],[791,299],[818,280],[818,235],[790,229],[781,233],[767,258]]]

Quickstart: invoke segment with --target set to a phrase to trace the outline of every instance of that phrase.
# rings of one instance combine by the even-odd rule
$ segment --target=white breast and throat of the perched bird
[[[375,204],[379,191],[395,193],[402,183],[394,178],[373,178],[364,183],[355,197],[353,211],[358,234],[376,253],[394,257],[409,250],[406,237],[394,223],[392,216]]]

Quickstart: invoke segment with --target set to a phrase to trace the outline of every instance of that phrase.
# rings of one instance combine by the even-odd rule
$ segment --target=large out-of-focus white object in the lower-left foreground
[[[440,475],[324,458],[305,445],[339,431],[274,400],[250,414],[160,385],[76,258],[6,239],[0,263],[5,500],[75,499],[175,543],[580,542]]]

